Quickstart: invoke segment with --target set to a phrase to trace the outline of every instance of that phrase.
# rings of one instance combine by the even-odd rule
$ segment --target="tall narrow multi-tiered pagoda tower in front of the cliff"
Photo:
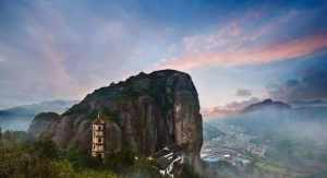
[[[106,122],[100,115],[92,122],[92,156],[105,158],[105,128]]]

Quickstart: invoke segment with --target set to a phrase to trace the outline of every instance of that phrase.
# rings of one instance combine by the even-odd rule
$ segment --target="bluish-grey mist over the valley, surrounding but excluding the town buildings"
[[[324,177],[327,170],[327,108],[262,109],[210,119],[218,130],[232,126],[266,149],[244,167],[208,163],[209,177],[287,178]],[[238,132],[233,134],[240,134]],[[221,137],[218,135],[217,138]],[[221,138],[220,138],[221,139]],[[210,143],[213,140],[206,140]],[[250,144],[250,143],[249,143]],[[217,170],[217,173],[215,171]],[[218,171],[219,170],[219,171]]]

